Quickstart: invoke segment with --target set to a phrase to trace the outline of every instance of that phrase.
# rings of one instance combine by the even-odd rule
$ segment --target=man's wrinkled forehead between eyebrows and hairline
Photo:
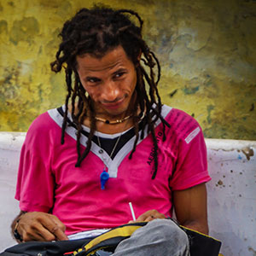
[[[113,69],[114,67],[133,66],[122,46],[109,50],[102,57],[84,54],[78,55],[76,59],[78,71],[80,72],[100,72]]]

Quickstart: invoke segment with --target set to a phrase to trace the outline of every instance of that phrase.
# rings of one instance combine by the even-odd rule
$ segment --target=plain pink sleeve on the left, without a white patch
[[[54,177],[50,170],[48,113],[36,119],[26,133],[20,152],[15,199],[20,210],[50,212],[54,203]]]

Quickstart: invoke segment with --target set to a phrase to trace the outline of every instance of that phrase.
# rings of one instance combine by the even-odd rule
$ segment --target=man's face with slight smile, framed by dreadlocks
[[[137,84],[137,73],[125,50],[118,46],[102,58],[77,56],[79,79],[95,103],[96,114],[124,117]]]

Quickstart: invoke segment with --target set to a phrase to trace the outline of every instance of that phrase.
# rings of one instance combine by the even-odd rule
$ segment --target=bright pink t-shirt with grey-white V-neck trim
[[[201,127],[188,114],[163,106],[166,141],[160,121],[155,127],[159,167],[154,172],[153,141],[149,134],[139,139],[129,160],[132,137],[113,160],[92,142],[90,154],[80,167],[77,161],[76,130],[67,126],[61,145],[62,116],[56,109],[41,114],[32,123],[21,149],[15,198],[20,210],[52,212],[66,225],[67,235],[92,229],[112,228],[131,220],[129,202],[136,217],[150,209],[172,216],[172,190],[188,189],[211,178],[207,172],[207,149]],[[71,117],[69,116],[71,119]],[[89,131],[84,126],[85,131]],[[120,134],[96,136],[113,138]],[[87,137],[81,137],[81,150]],[[101,189],[104,163],[109,179]]]

